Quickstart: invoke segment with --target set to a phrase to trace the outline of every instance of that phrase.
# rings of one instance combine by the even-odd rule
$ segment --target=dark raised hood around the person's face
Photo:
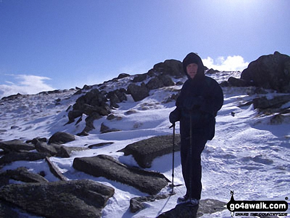
[[[194,80],[204,78],[205,77],[205,66],[203,64],[203,61],[200,58],[200,56],[198,56],[196,53],[193,53],[193,52],[186,55],[186,57],[182,61],[183,72],[185,73],[185,75],[188,77],[188,79],[191,79],[186,72],[186,67],[187,67],[187,65],[193,64],[193,63],[197,64],[199,66],[198,71],[197,71],[197,75],[194,77]]]

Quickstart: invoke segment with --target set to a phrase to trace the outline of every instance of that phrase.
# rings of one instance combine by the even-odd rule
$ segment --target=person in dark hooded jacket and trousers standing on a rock
[[[223,92],[218,83],[205,76],[202,59],[189,53],[182,62],[188,80],[176,100],[176,109],[169,115],[173,125],[180,121],[181,166],[186,194],[178,203],[198,205],[202,192],[201,154],[215,131],[215,117],[223,104]]]

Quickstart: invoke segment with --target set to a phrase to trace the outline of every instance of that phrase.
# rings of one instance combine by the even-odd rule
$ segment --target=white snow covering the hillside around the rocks
[[[221,72],[210,75],[218,82],[227,80],[229,76],[238,77],[238,72]],[[105,90],[113,90],[128,85],[131,77],[118,83],[110,82]],[[185,81],[185,78],[182,79]],[[176,81],[175,81],[176,82]],[[128,96],[126,102],[120,103],[120,108],[113,111],[122,119],[106,120],[101,118],[94,122],[95,130],[88,136],[76,136],[77,140],[67,146],[87,146],[100,142],[114,142],[99,148],[73,152],[70,158],[51,157],[50,160],[59,167],[69,179],[88,178],[115,188],[115,195],[110,198],[103,210],[103,218],[155,218],[176,205],[179,196],[185,194],[185,186],[175,188],[176,195],[164,200],[146,203],[146,209],[131,214],[129,200],[137,196],[145,196],[137,189],[110,181],[103,177],[93,177],[76,171],[73,160],[76,157],[107,154],[120,162],[138,166],[132,156],[124,156],[117,152],[126,145],[156,135],[172,134],[168,121],[169,113],[175,108],[174,102],[164,103],[176,89],[181,86],[165,87],[150,92],[150,96],[142,101],[134,102]],[[235,200],[285,200],[290,197],[290,122],[280,125],[270,125],[273,115],[262,115],[253,109],[252,105],[239,107],[249,100],[259,96],[251,93],[251,88],[224,87],[224,105],[216,118],[216,133],[213,140],[208,141],[202,154],[203,191],[202,199],[217,199],[228,202],[230,191],[234,190]],[[0,139],[28,140],[35,137],[49,138],[56,131],[73,134],[81,132],[85,126],[83,121],[65,125],[68,122],[66,109],[73,105],[80,95],[72,95],[75,91],[53,94],[36,94],[18,97],[15,100],[0,101]],[[268,98],[275,93],[267,94]],[[61,99],[56,105],[56,99]],[[126,111],[135,113],[126,115]],[[231,113],[234,112],[235,116]],[[110,128],[122,131],[100,133],[100,125],[104,123]],[[12,128],[11,128],[12,127]],[[177,133],[179,126],[177,124]],[[30,171],[39,173],[45,171],[45,178],[58,180],[50,172],[45,161],[18,161],[1,169],[16,169],[26,166]],[[147,170],[158,171],[171,180],[171,154],[159,157]],[[175,155],[174,183],[183,184],[179,152]],[[16,181],[13,181],[16,182]],[[161,193],[168,193],[164,188]],[[288,210],[290,215],[290,210]],[[228,210],[217,212],[207,217],[230,218]],[[289,216],[290,217],[290,216]]]

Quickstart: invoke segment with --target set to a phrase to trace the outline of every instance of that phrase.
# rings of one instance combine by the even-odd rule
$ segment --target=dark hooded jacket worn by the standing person
[[[198,64],[198,72],[194,79],[191,79],[186,71],[186,66],[191,63]],[[188,80],[181,88],[176,100],[176,109],[170,113],[169,121],[180,121],[181,137],[188,137],[191,119],[192,131],[211,140],[215,131],[216,114],[223,105],[222,89],[214,79],[205,76],[204,64],[197,54],[189,53],[182,64]]]

